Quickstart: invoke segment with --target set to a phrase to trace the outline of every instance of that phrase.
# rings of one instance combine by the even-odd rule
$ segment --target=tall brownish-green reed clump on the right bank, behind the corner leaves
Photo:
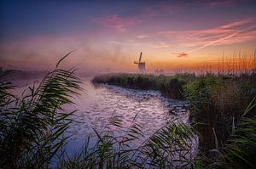
[[[201,76],[185,87],[191,106],[191,119],[199,122],[197,130],[203,136],[201,147],[218,149],[230,136],[233,124],[253,99],[253,88],[240,77]],[[242,79],[242,80],[241,80]]]

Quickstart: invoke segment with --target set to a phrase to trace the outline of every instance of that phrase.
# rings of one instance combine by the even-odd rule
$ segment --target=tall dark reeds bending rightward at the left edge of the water
[[[11,94],[11,83],[1,79],[1,167],[47,167],[65,144],[67,137],[62,133],[71,123],[68,116],[74,111],[63,110],[63,105],[73,104],[81,82],[74,76],[74,69],[62,70],[59,63],[20,98]]]

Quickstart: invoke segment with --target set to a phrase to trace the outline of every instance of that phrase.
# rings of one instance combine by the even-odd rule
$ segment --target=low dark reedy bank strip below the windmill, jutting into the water
[[[195,75],[154,76],[139,74],[108,74],[96,76],[92,82],[106,83],[120,87],[157,90],[170,99],[184,99],[183,88],[188,82],[195,81]]]

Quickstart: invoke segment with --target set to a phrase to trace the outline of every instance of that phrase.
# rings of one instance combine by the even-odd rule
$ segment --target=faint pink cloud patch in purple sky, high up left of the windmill
[[[91,20],[97,25],[114,28],[118,31],[126,31],[128,27],[143,21],[140,17],[120,17],[118,14],[111,14]]]

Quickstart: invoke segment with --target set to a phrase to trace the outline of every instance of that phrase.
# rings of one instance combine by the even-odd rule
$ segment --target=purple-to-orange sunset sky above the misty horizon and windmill
[[[0,66],[136,70],[202,69],[250,58],[255,0],[0,0]]]

